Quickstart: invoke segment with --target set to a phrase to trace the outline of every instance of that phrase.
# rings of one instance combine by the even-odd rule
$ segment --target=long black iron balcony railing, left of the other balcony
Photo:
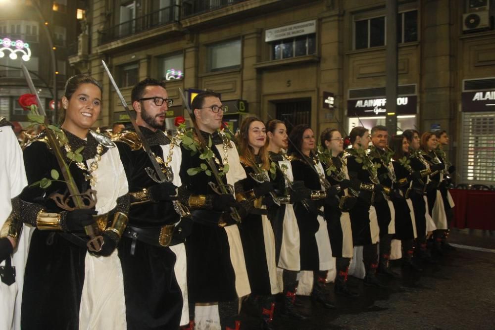
[[[105,44],[113,40],[147,31],[160,25],[178,22],[179,13],[180,6],[174,4],[172,6],[154,11],[150,14],[112,26],[111,28],[101,32],[101,43]]]

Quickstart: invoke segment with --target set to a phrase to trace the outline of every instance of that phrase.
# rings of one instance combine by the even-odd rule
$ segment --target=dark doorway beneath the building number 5
[[[311,125],[311,98],[276,102],[277,119],[286,123],[287,131],[299,124]]]

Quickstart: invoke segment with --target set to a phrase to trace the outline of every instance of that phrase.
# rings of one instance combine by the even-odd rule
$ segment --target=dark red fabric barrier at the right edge
[[[495,191],[450,189],[454,200],[451,226],[495,230]]]

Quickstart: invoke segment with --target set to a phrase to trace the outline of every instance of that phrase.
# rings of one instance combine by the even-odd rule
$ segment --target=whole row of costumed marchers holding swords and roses
[[[145,79],[131,94],[134,129],[105,136],[91,129],[101,92],[71,77],[60,126],[21,104],[45,126],[23,151],[0,121],[1,329],[239,330],[248,305],[273,329],[276,295],[280,315],[307,319],[295,305],[302,283],[333,307],[329,271],[337,294],[357,297],[353,257],[365,285],[384,287],[377,271],[397,276],[392,238],[415,271],[414,248],[431,259],[429,233],[448,246],[454,169],[435,135],[389,141],[383,126],[356,127],[345,148],[327,129],[317,147],[307,125],[288,135],[255,117],[233,134],[220,95],[206,91],[188,106],[193,127],[176,118],[171,136],[173,100]]]

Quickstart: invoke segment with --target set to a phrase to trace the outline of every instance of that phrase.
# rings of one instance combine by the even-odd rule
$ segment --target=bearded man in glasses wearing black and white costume
[[[174,146],[170,151],[170,140],[163,132],[165,113],[173,101],[162,82],[149,78],[133,88],[131,97],[136,123],[151,151],[166,162],[172,158],[167,165],[173,182],[157,184],[148,176],[146,169],[153,166],[134,131],[118,135],[116,144],[131,196],[129,223],[118,247],[127,329],[179,329],[189,323],[184,245],[189,229],[172,203],[181,185],[181,150]]]

